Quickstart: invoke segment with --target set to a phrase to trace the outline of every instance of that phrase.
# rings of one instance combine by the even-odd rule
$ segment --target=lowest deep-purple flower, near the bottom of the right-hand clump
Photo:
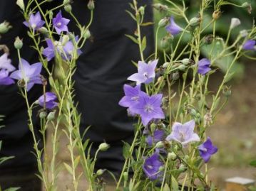
[[[150,180],[157,180],[163,175],[163,172],[159,170],[161,166],[163,166],[163,162],[159,160],[158,153],[154,153],[149,158],[145,159],[145,163],[143,164],[142,168],[145,175]]]

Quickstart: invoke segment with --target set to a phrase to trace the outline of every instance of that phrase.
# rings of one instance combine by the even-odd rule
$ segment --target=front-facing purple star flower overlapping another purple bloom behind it
[[[162,103],[163,94],[154,94],[148,96],[145,92],[140,92],[138,104],[130,106],[130,110],[135,114],[139,114],[144,126],[152,119],[164,119],[165,114],[160,105]]]

